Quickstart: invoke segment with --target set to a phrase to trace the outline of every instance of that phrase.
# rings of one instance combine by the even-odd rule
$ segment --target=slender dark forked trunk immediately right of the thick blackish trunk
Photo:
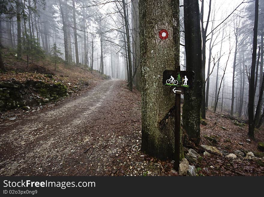
[[[207,16],[207,22],[205,28],[203,26],[203,16],[204,16],[204,0],[201,4],[201,32],[202,32],[202,77],[203,77],[203,88],[202,88],[202,103],[201,103],[201,117],[205,119],[205,52],[206,52],[206,32],[209,23],[209,17],[211,13],[211,0],[209,1],[209,11]]]

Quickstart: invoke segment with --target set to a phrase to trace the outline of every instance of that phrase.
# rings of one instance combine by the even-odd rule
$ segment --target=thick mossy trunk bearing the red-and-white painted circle
[[[179,0],[140,0],[139,15],[141,150],[159,159],[173,158],[175,97],[170,88],[162,84],[162,76],[164,70],[180,70]],[[162,29],[169,33],[165,40],[159,37],[159,31]]]

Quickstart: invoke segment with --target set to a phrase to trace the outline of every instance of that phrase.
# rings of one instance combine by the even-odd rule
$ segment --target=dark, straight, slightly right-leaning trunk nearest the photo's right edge
[[[253,52],[250,72],[250,82],[248,91],[248,135],[254,138],[254,80],[256,68],[256,51],[257,51],[257,33],[258,33],[258,18],[259,18],[259,0],[255,0],[255,22],[253,29]]]

